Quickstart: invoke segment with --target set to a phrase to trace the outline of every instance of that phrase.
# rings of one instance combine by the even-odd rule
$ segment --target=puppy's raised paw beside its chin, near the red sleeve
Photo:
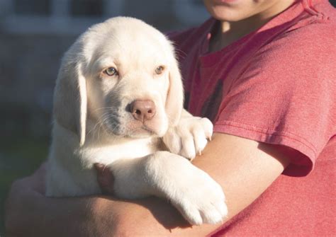
[[[162,138],[169,151],[189,160],[206,147],[213,134],[213,124],[206,117],[181,117],[176,127],[168,129]]]

